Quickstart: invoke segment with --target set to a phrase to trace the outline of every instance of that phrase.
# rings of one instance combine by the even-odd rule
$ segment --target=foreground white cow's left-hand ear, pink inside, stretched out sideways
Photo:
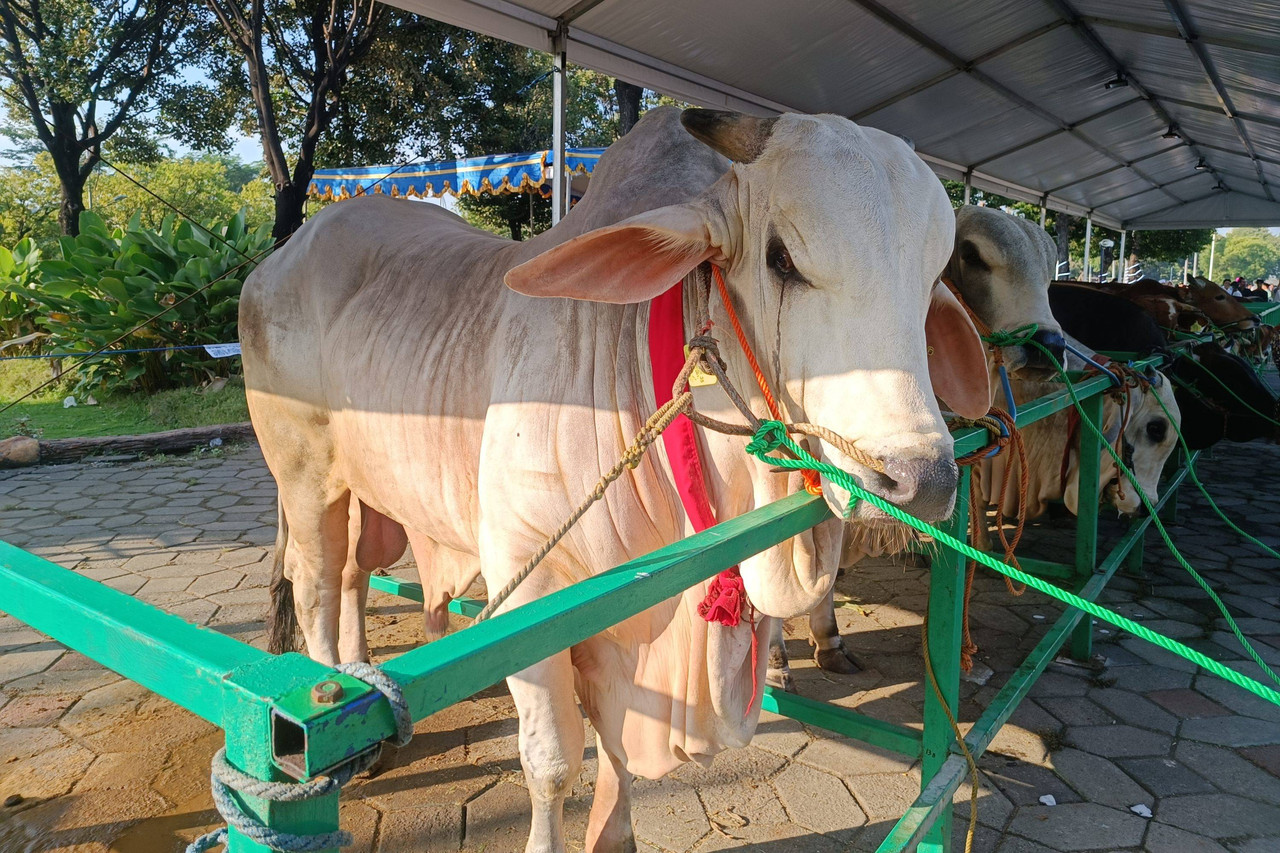
[[[703,205],[649,210],[547,250],[507,273],[511,289],[591,302],[644,302],[718,257]]]

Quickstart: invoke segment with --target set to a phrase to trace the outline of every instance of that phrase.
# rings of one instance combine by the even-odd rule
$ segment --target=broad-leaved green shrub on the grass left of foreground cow
[[[49,333],[46,351],[88,352],[122,336],[113,348],[234,341],[241,284],[253,266],[246,261],[271,245],[270,229],[250,229],[237,214],[211,231],[221,240],[173,216],[152,231],[138,216],[111,229],[97,214],[81,214],[81,234],[59,241],[29,291],[36,324]],[[148,323],[154,315],[160,319]],[[78,392],[111,394],[192,384],[229,366],[189,350],[99,357],[74,369]]]

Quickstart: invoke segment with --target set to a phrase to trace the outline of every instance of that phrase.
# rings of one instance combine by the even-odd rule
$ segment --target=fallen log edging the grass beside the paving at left
[[[244,421],[242,424],[170,429],[145,435],[55,438],[51,441],[14,435],[0,441],[0,467],[56,465],[59,462],[76,462],[87,456],[104,455],[186,453],[197,447],[207,447],[215,439],[221,439],[224,443],[253,441],[253,424]]]

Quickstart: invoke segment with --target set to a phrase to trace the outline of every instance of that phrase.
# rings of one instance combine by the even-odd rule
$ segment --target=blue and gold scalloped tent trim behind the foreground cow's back
[[[564,165],[570,175],[590,174],[604,149],[568,149]],[[346,169],[316,169],[308,193],[339,201],[369,193],[439,199],[480,193],[552,191],[552,152],[494,154],[465,160],[416,163],[406,167],[374,165]]]

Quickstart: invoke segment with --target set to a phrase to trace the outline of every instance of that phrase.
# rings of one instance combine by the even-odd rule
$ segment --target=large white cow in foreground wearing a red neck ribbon
[[[787,418],[838,432],[886,474],[826,443],[817,455],[924,519],[950,514],[956,469],[925,368],[927,314],[931,341],[951,353],[933,374],[948,403],[984,405],[988,387],[972,324],[934,288],[954,233],[937,179],[899,138],[838,117],[687,110],[698,142],[677,115],[646,117],[644,133],[602,158],[607,181],[529,242],[435,206],[360,199],[325,209],[246,283],[250,410],[312,657],[367,654],[366,573],[406,539],[424,576],[439,556],[445,587],[477,566],[502,588],[654,410],[648,301],[680,283],[692,336],[708,261],[723,268]],[[667,206],[650,209],[654,182]],[[723,305],[708,307],[730,377],[764,414],[723,334]],[[735,418],[717,387],[699,388],[696,406]],[[785,496],[787,479],[749,459],[742,438],[700,442],[717,517]],[[823,488],[844,508],[849,494]],[[854,521],[882,515],[859,505]],[[822,555],[838,549],[842,525],[819,528],[742,562],[755,625],[700,619],[703,584],[507,679],[532,799],[529,852],[564,849],[563,800],[584,748],[575,688],[600,757],[589,850],[634,849],[634,774],[660,776],[750,739],[764,665],[753,672],[753,631],[767,640],[773,617],[831,588],[836,561]],[[690,533],[658,446],[507,607]]]

